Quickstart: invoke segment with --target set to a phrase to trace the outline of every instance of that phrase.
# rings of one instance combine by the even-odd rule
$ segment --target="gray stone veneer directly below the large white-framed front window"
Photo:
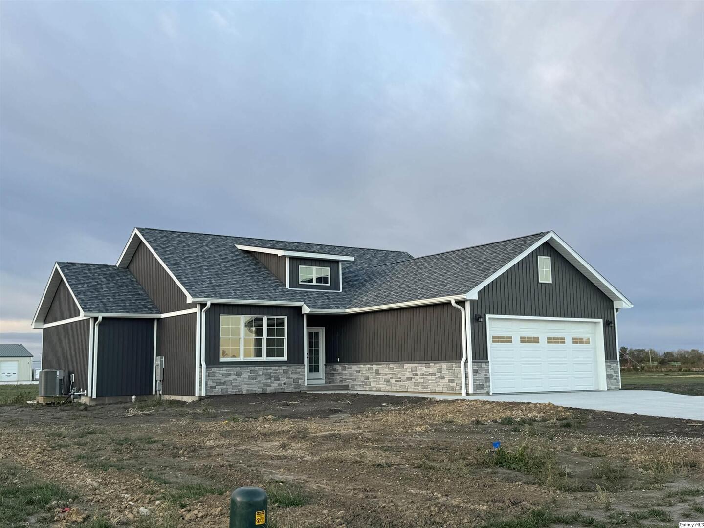
[[[294,392],[303,389],[303,365],[208,367],[206,394]]]

